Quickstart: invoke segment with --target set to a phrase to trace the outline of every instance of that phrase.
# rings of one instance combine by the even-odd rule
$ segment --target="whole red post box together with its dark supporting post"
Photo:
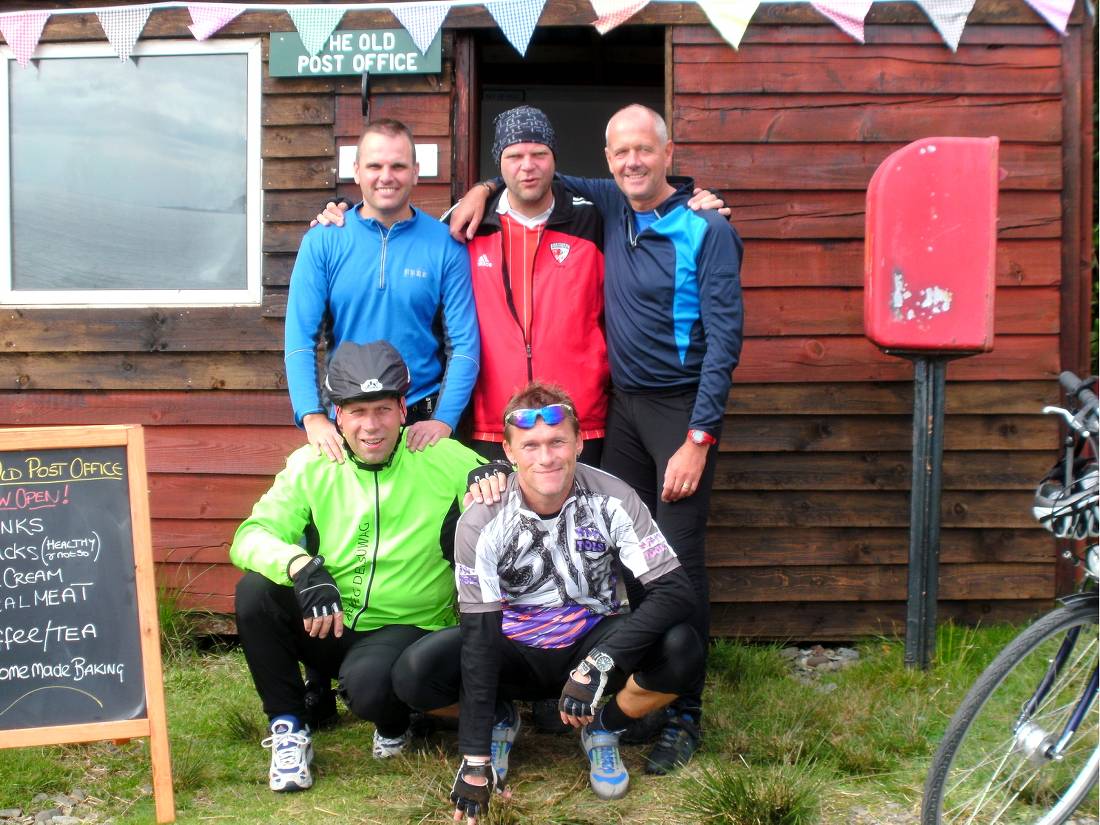
[[[905,663],[936,644],[947,362],[993,348],[997,138],[926,138],[867,189],[864,328],[913,362]]]

